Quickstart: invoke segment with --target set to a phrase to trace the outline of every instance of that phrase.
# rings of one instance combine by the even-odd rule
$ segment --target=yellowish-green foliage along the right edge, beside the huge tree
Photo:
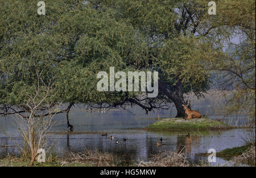
[[[209,59],[209,69],[218,71],[224,90],[232,87],[232,96],[227,96],[226,111],[247,116],[255,125],[255,1],[220,1],[215,23],[221,29],[230,31],[220,33],[221,41],[214,44],[224,47]],[[239,36],[240,41],[232,43],[230,39]]]

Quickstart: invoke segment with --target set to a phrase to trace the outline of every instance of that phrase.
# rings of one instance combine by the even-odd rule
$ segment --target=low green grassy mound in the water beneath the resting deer
[[[146,130],[158,131],[185,131],[185,130],[222,130],[231,127],[220,121],[211,120],[208,117],[193,118],[185,120],[184,118],[164,118],[147,126]]]

